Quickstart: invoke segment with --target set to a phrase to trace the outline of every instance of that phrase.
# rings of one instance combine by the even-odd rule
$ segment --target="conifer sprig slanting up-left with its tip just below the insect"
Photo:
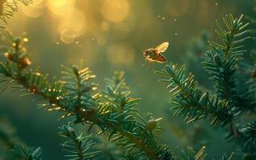
[[[185,66],[167,65],[162,72],[166,79],[162,82],[169,82],[169,93],[172,110],[175,115],[185,118],[186,122],[194,122],[199,119],[209,119],[213,126],[227,126],[231,119],[229,102],[222,102],[217,96],[210,97],[208,91],[203,91],[197,86],[193,74],[186,76]]]

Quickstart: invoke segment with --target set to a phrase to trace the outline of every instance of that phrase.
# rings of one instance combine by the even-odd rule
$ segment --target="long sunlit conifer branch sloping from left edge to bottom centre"
[[[0,63],[3,89],[11,86],[24,91],[24,96],[35,95],[37,100],[44,101],[40,107],[62,112],[61,118],[75,117],[75,122],[89,124],[90,129],[99,126],[126,154],[140,154],[154,160],[171,158],[169,148],[158,145],[153,134],[157,131],[157,119],[142,120],[139,110],[133,108],[139,99],[128,97],[129,91],[120,92],[124,80],[116,81],[116,90],[108,87],[104,96],[95,90],[95,84],[88,82],[95,76],[87,68],[71,66],[63,72],[63,80],[48,82],[47,75],[38,70],[26,70],[30,60],[22,48],[22,39],[15,39],[12,49],[5,54],[8,61],[5,65]],[[138,119],[142,122],[137,122]]]

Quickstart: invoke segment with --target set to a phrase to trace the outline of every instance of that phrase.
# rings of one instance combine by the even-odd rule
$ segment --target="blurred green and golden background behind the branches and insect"
[[[219,158],[230,154],[234,144],[204,122],[186,126],[173,117],[166,85],[157,82],[160,76],[153,73],[165,65],[148,64],[142,52],[170,42],[165,52],[168,62],[186,64],[201,84],[212,88],[201,70],[200,57],[207,38],[216,38],[215,19],[230,13],[256,17],[255,10],[253,0],[35,0],[31,6],[21,6],[7,27],[14,35],[26,32],[33,66],[50,77],[60,78],[60,65],[78,64],[82,59],[103,89],[104,78],[124,70],[132,95],[142,98],[137,106],[141,112],[164,118],[162,142],[174,152],[177,147],[207,144],[209,158]],[[63,159],[59,114],[38,110],[30,98],[19,98],[8,90],[1,94],[0,106],[1,116],[10,119],[22,141],[42,146],[45,159]]]

